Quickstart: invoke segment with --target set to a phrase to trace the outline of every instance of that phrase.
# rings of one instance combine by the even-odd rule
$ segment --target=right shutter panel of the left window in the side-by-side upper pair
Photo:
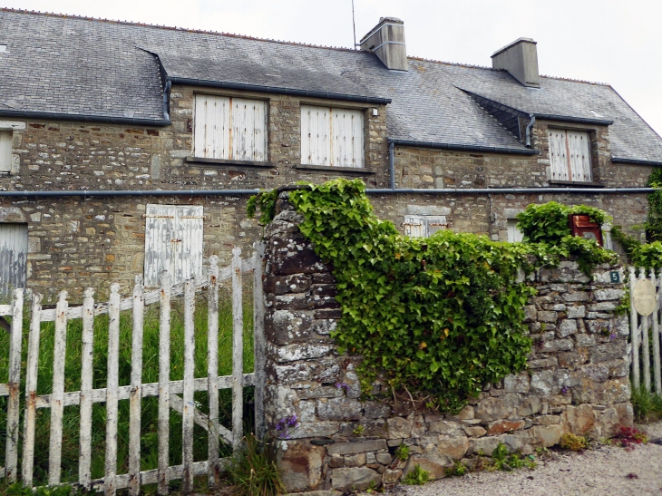
[[[232,99],[232,160],[267,160],[267,102]]]

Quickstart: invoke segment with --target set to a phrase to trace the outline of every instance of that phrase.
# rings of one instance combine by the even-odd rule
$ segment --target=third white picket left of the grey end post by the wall
[[[184,470],[181,476],[182,492],[193,491],[193,391],[195,379],[195,287],[193,281],[184,284],[184,380],[183,380],[183,409],[181,411],[181,461]]]

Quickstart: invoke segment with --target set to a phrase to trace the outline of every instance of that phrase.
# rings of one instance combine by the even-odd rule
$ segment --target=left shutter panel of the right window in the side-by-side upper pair
[[[301,105],[301,163],[331,165],[331,112]]]

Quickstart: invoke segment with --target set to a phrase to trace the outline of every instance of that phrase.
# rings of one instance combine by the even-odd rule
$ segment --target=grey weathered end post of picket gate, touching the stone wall
[[[265,388],[265,336],[264,336],[264,293],[262,287],[262,262],[265,244],[253,245],[253,343],[255,377],[255,433],[258,439],[265,434],[264,388]]]

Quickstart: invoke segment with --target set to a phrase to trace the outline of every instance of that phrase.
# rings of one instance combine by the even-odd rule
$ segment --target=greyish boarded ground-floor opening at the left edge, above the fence
[[[0,297],[25,287],[27,224],[0,224]]]

